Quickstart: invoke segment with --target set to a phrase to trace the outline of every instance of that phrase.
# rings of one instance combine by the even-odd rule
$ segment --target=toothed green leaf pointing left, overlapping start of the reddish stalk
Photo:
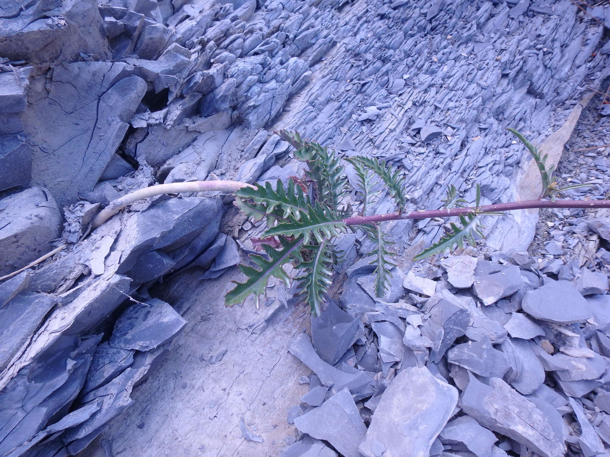
[[[307,205],[307,213],[301,219],[289,216],[287,222],[279,222],[275,227],[268,228],[262,236],[303,236],[305,244],[308,244],[312,236],[318,243],[322,243],[326,238],[339,236],[340,233],[347,233],[343,219],[327,205],[316,202],[313,207]]]

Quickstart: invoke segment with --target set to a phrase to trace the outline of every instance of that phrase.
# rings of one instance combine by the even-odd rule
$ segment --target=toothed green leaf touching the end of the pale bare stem
[[[235,197],[242,200],[251,200],[255,204],[262,204],[265,208],[265,215],[281,214],[282,219],[286,219],[288,216],[300,219],[301,214],[307,213],[307,204],[309,203],[307,197],[300,186],[295,186],[295,182],[292,179],[288,180],[287,191],[284,190],[284,185],[279,179],[275,189],[273,189],[270,182],[265,183],[264,186],[260,183],[254,183],[254,185],[256,186],[255,189],[242,187],[235,191]],[[247,209],[254,211],[251,207]],[[281,211],[275,211],[276,209]],[[261,208],[256,207],[256,211],[260,212]]]

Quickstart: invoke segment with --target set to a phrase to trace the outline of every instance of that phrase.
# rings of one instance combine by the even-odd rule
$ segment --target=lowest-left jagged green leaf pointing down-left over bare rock
[[[280,238],[280,242],[282,247],[279,250],[273,249],[273,247],[267,244],[263,245],[263,249],[269,257],[268,259],[262,257],[262,255],[249,255],[250,260],[260,269],[245,264],[237,266],[239,271],[245,274],[247,278],[243,283],[232,281],[235,283],[235,287],[224,296],[224,305],[233,306],[237,305],[237,303],[243,303],[251,294],[254,294],[254,303],[256,303],[256,308],[258,308],[259,296],[261,294],[265,297],[267,296],[265,289],[271,276],[282,280],[287,288],[290,287],[290,278],[282,266],[292,260],[303,260],[300,253],[300,249],[303,247],[303,237],[293,239],[292,241]]]

